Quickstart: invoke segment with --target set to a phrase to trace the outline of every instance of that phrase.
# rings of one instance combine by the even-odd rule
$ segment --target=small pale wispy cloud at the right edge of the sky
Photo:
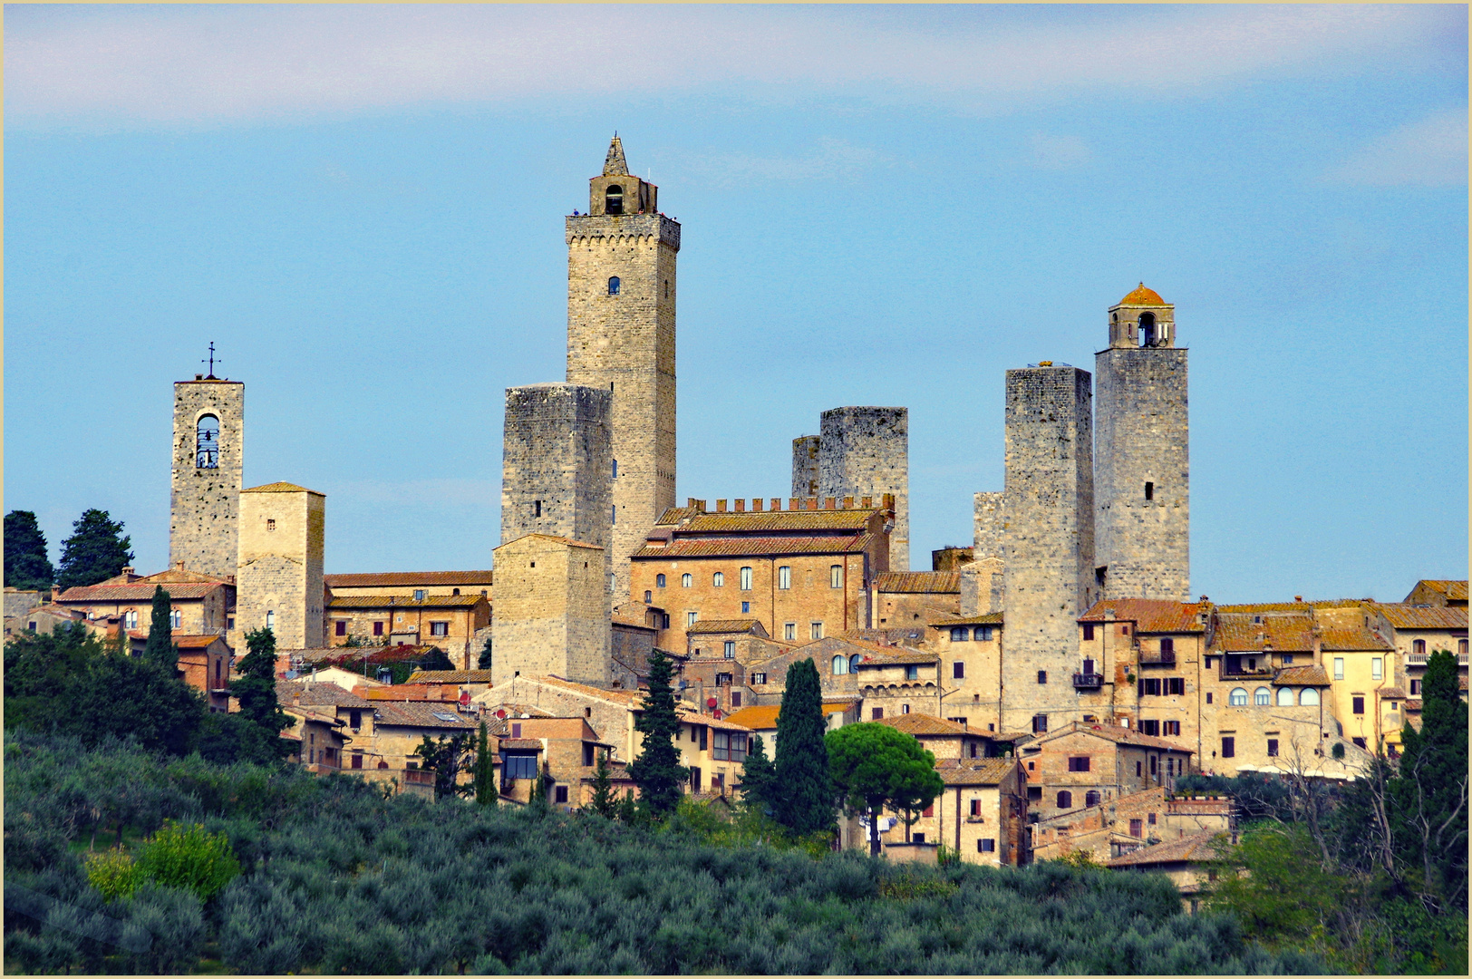
[[[1448,109],[1370,140],[1328,174],[1363,187],[1450,187],[1468,180],[1468,110]]]

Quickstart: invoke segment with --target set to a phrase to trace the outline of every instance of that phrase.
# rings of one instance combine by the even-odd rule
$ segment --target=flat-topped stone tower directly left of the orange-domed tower
[[[1007,371],[1002,730],[1078,720],[1076,621],[1094,584],[1094,424],[1088,371]]]

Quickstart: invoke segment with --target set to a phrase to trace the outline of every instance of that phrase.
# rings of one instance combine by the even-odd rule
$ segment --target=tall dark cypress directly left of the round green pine
[[[788,667],[777,714],[773,810],[779,823],[807,835],[835,826],[833,780],[823,735],[823,688],[813,660]]]

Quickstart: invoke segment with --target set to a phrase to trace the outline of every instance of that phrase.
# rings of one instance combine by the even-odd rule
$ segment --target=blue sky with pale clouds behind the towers
[[[1191,347],[1192,587],[1468,573],[1463,6],[7,6],[4,506],[168,559],[172,381],[328,571],[483,568],[502,392],[562,380],[614,130],[683,225],[679,493],[910,408],[916,568],[1002,377],[1144,280]]]

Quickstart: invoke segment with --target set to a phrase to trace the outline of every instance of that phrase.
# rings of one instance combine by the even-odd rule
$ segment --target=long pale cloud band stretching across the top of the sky
[[[1465,9],[1416,4],[880,13],[12,6],[6,110],[12,124],[194,124],[742,85],[985,107],[1080,91],[1178,96],[1372,63],[1415,68],[1465,50],[1466,34]]]

